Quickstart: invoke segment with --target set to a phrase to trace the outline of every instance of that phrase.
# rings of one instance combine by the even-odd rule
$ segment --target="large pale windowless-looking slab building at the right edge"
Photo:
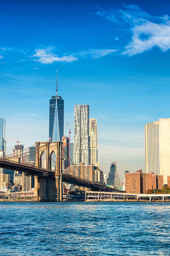
[[[170,175],[170,118],[145,125],[146,173],[160,174],[167,185]]]

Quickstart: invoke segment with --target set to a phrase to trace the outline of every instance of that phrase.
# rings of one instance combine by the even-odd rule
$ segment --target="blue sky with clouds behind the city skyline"
[[[0,117],[24,148],[48,140],[49,99],[98,122],[98,158],[108,173],[145,171],[144,125],[169,118],[169,1],[1,1]],[[7,153],[15,143],[7,140]]]

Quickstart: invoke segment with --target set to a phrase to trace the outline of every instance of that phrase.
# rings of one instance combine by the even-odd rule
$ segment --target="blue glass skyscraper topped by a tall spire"
[[[64,134],[64,100],[57,95],[49,100],[49,140],[62,141]]]

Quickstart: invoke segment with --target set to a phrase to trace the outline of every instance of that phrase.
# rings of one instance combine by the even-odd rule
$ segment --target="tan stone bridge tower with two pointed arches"
[[[55,177],[35,176],[34,201],[62,202],[62,142],[36,142],[36,166],[42,167],[46,154],[46,169],[51,170],[51,156],[56,155]]]

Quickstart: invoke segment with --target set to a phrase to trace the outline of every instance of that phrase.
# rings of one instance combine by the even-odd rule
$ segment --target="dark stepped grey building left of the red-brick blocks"
[[[119,173],[117,172],[116,162],[111,163],[107,185],[114,186],[117,189],[121,187],[121,179],[119,178]]]

